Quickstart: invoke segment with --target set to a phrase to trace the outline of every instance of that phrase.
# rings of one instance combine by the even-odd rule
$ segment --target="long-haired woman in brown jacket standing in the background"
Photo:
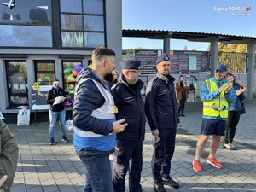
[[[179,81],[176,83],[177,99],[179,101],[178,115],[185,117],[184,108],[185,103],[189,98],[189,87],[186,84],[183,75],[180,75],[178,79]]]

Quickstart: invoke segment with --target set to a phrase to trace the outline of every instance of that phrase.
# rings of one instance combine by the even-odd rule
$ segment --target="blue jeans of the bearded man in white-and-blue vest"
[[[84,192],[113,192],[109,153],[92,148],[77,154],[85,166]]]

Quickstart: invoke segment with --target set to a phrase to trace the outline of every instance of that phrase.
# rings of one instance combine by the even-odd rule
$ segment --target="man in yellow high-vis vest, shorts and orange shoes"
[[[218,169],[223,168],[215,155],[220,138],[224,136],[229,103],[235,102],[236,100],[236,92],[232,84],[225,79],[227,70],[224,64],[219,64],[215,70],[214,77],[205,80],[201,85],[200,96],[203,102],[203,117],[201,136],[197,141],[195,159],[193,160],[193,169],[195,172],[201,172],[200,157],[210,136],[212,136],[212,140],[207,163]]]

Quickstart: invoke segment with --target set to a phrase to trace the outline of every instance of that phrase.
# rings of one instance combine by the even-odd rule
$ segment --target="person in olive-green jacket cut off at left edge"
[[[0,192],[9,192],[15,178],[19,148],[15,136],[0,116]]]

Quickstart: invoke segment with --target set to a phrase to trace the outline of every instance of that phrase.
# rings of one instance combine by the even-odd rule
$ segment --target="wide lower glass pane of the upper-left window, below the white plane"
[[[0,46],[52,47],[50,26],[0,25],[0,39]]]

